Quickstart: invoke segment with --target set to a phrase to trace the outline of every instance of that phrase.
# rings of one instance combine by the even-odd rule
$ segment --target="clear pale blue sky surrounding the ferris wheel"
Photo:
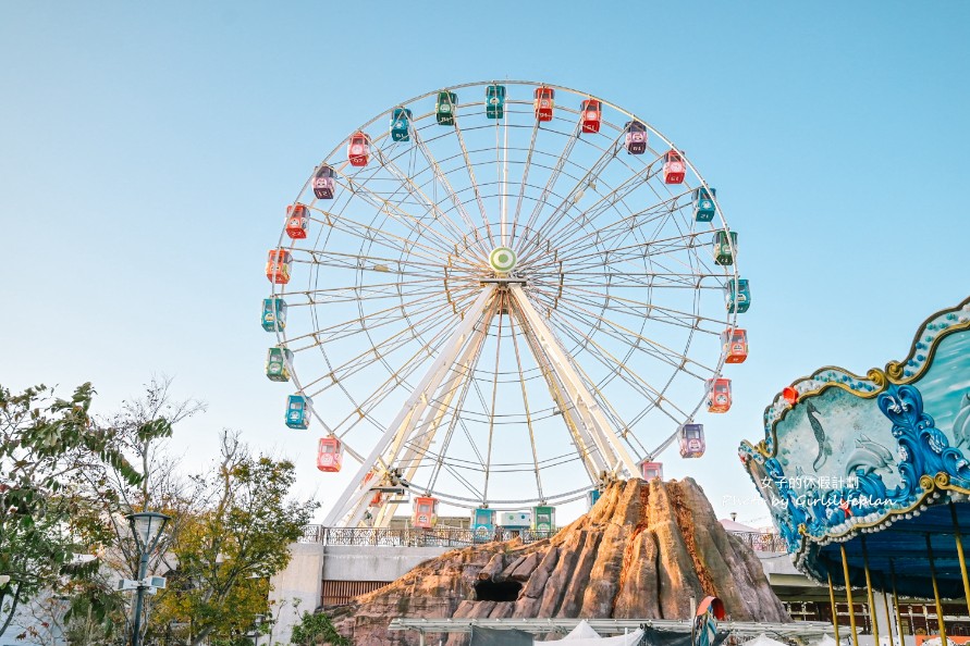
[[[542,9],[545,7],[547,9]],[[824,364],[903,357],[968,295],[970,4],[0,4],[0,382],[102,410],[151,373],[333,492],[262,374],[266,249],[358,124],[434,88],[544,80],[642,115],[719,189],[751,281],[751,357],[708,455],[665,456],[715,511],[766,512],[736,447]],[[11,271],[12,270],[12,271]],[[725,496],[734,497],[734,501]]]

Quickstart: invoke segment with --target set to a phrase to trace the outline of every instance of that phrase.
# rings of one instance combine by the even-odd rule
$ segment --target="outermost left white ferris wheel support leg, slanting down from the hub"
[[[481,321],[482,314],[486,312],[494,294],[495,286],[487,285],[481,294],[479,294],[478,298],[475,299],[475,302],[471,303],[471,307],[465,311],[461,325],[458,325],[449,340],[444,344],[441,353],[431,364],[431,368],[428,369],[428,372],[421,377],[421,381],[418,383],[410,397],[407,398],[407,401],[405,401],[401,411],[391,424],[388,425],[388,430],[384,432],[383,436],[381,436],[380,440],[378,440],[373,449],[360,464],[360,469],[358,469],[357,474],[351,481],[351,484],[347,485],[340,498],[334,502],[330,513],[328,513],[327,518],[323,520],[324,525],[334,526],[351,513],[357,502],[367,495],[369,488],[364,484],[364,479],[367,475],[367,472],[370,471],[378,458],[384,455],[384,451],[392,445],[392,443],[395,446],[395,450],[392,452],[396,455],[396,451],[400,450],[404,439],[410,434],[414,424],[428,407],[429,394],[433,394],[441,385],[442,380],[444,380],[445,374],[447,373],[447,369],[454,364],[462,348],[469,340],[471,333],[475,331],[475,326]],[[357,514],[355,513],[355,515]],[[360,515],[363,517],[363,511],[360,512]],[[359,519],[357,519],[357,522],[359,522]]]

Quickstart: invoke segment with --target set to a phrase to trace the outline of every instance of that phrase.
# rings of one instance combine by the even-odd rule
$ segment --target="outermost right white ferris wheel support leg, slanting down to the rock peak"
[[[560,347],[558,340],[552,330],[542,320],[542,316],[529,301],[526,293],[520,285],[509,285],[509,294],[515,301],[517,309],[523,313],[529,322],[531,333],[537,335],[540,351],[544,352],[550,359],[555,375],[564,383],[566,396],[569,397],[576,412],[587,423],[598,448],[603,451],[603,456],[609,456],[613,462],[612,472],[618,475],[621,469],[628,472],[629,475],[637,474],[637,462],[630,456],[626,446],[621,442],[619,436],[613,431],[606,415],[603,414],[597,400],[587,389],[586,385],[573,368],[568,357]]]

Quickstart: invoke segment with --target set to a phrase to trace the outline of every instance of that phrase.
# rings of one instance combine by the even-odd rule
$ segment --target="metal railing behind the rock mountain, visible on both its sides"
[[[480,533],[458,527],[435,527],[421,530],[376,529],[376,527],[324,527],[307,525],[300,543],[320,543],[322,545],[371,545],[384,547],[466,547],[491,541],[511,541],[520,538],[523,543],[535,543],[554,535],[555,532],[537,532],[532,530],[503,530]],[[761,532],[732,532],[736,538],[754,551],[788,551],[785,541],[777,534]]]

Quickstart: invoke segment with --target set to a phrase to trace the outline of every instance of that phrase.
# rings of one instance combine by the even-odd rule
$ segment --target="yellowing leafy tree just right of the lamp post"
[[[198,507],[170,550],[177,570],[158,595],[154,621],[186,624],[191,646],[231,641],[269,610],[269,577],[286,567],[290,544],[317,505],[288,499],[293,463],[254,456],[222,433],[221,461],[194,479]]]

